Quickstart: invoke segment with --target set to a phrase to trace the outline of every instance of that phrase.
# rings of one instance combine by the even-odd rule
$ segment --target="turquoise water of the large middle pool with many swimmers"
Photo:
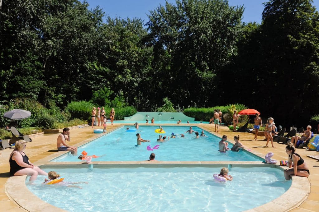
[[[155,153],[155,159],[164,161],[262,161],[262,158],[255,156],[248,151],[226,153],[219,152],[218,142],[221,138],[204,131],[207,137],[195,138],[195,133],[185,133],[189,130],[189,126],[163,126],[166,133],[159,134],[155,130],[158,126],[140,126],[139,130],[134,132],[126,132],[126,128],[134,128],[134,126],[124,126],[120,129],[112,131],[100,138],[93,140],[78,148],[78,155],[82,151],[88,155],[97,155],[92,161],[142,161],[149,159],[152,152]],[[193,126],[194,131],[199,133],[201,128]],[[177,138],[170,138],[166,142],[157,142],[159,135],[170,136],[171,133],[178,134]],[[140,133],[141,137],[151,142],[145,142],[136,146],[136,133]],[[181,137],[181,133],[185,137]],[[233,138],[228,138],[233,139]],[[234,140],[232,140],[234,143]],[[148,151],[146,148],[150,145],[153,148],[159,145],[158,149]],[[229,143],[229,148],[232,144]],[[53,159],[56,162],[79,162],[77,156],[72,156],[70,153]]]

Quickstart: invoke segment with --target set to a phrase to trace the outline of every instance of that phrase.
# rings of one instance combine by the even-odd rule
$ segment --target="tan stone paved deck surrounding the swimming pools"
[[[130,124],[114,124],[108,125],[107,131],[113,131],[122,125]],[[152,126],[153,124],[139,124]],[[158,126],[156,123],[155,126]],[[176,124],[161,124],[165,125],[176,125]],[[251,152],[255,153],[258,156],[264,157],[268,152],[273,152],[274,156],[272,159],[276,159],[279,164],[280,160],[287,160],[288,156],[285,152],[286,145],[278,144],[274,142],[275,149],[271,147],[265,147],[266,142],[262,141],[264,137],[258,137],[257,141],[253,140],[254,135],[251,133],[239,133],[229,130],[225,126],[219,127],[219,133],[215,133],[213,124],[179,124],[181,126],[198,126],[214,135],[222,137],[227,135],[228,141],[234,143],[233,137],[235,135],[240,135],[240,140],[245,145],[246,149],[250,149]],[[102,127],[95,126],[93,129],[102,129]],[[63,154],[64,152],[56,152],[56,139],[59,133],[57,134],[44,134],[44,136],[33,138],[33,142],[28,142],[26,146],[26,154],[29,157],[29,160],[33,164],[49,164],[48,158],[54,158]],[[83,145],[88,141],[91,141],[95,138],[102,136],[102,134],[95,134],[91,126],[84,128],[77,128],[70,130],[70,145]],[[28,198],[20,199],[19,202],[14,201],[17,197],[21,198],[21,194],[9,195],[14,193],[16,190],[23,191],[25,189],[24,179],[25,176],[11,177],[10,180],[10,166],[9,166],[9,156],[12,150],[5,149],[0,151],[0,204],[3,211],[56,211],[55,207],[47,207],[48,203],[42,202],[41,204],[35,203],[29,200],[29,196],[25,193]],[[319,208],[319,160],[308,158],[307,155],[319,156],[319,152],[316,151],[307,151],[305,149],[297,149],[298,154],[306,161],[310,168],[310,176],[305,177],[293,177],[293,188],[290,188],[289,193],[285,193],[283,196],[275,199],[263,206],[251,209],[249,211],[293,211],[293,212],[306,212],[306,211],[318,211]],[[147,162],[147,161],[138,161],[138,162],[118,162],[118,164],[170,164],[169,162],[158,161],[158,162]],[[232,161],[234,164],[234,161]],[[259,162],[258,162],[259,163]],[[79,161],[77,164],[81,164]],[[109,164],[115,164],[115,162],[110,162]],[[183,162],[173,162],[173,164],[183,164]],[[188,163],[189,164],[189,163]],[[193,164],[212,164],[210,162],[204,161],[194,161]],[[44,176],[39,176],[43,177]],[[284,176],[283,176],[284,177]],[[309,192],[310,186],[310,192]],[[9,190],[9,192],[8,192]],[[288,190],[288,191],[289,191]],[[19,192],[16,192],[19,193]],[[21,192],[20,192],[21,193]],[[303,198],[299,198],[300,194],[303,195]],[[298,199],[299,198],[299,199]],[[296,199],[298,201],[296,201]],[[40,200],[40,199],[39,199]],[[30,203],[31,202],[31,203]],[[50,205],[49,205],[50,206]],[[292,209],[293,208],[293,209]],[[57,210],[63,211],[63,210]]]

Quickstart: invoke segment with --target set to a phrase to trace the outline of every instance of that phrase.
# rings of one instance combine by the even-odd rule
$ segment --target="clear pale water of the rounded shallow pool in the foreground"
[[[92,166],[92,165],[88,165]],[[56,207],[68,211],[244,211],[270,202],[291,186],[282,170],[273,166],[240,166],[230,169],[232,181],[212,175],[220,167],[44,168],[56,171],[65,187],[41,184],[38,177],[28,189]],[[95,165],[94,165],[95,166]],[[28,179],[26,179],[28,181]],[[286,201],[286,200],[283,200]]]

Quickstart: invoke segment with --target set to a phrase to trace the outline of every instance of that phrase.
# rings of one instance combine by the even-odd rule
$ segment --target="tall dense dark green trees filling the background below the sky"
[[[86,1],[1,2],[1,104],[87,100],[146,111],[167,97],[181,108],[239,102],[283,125],[319,114],[311,0],[266,2],[261,24],[242,23],[244,7],[226,0],[176,0],[150,11],[145,26]]]

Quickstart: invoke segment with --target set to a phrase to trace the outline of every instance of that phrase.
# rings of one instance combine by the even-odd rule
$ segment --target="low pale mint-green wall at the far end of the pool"
[[[195,121],[195,118],[185,116],[183,113],[170,112],[137,112],[133,116],[124,117],[124,121],[140,122],[148,119],[149,123],[151,123],[152,117],[154,117],[155,121]]]

